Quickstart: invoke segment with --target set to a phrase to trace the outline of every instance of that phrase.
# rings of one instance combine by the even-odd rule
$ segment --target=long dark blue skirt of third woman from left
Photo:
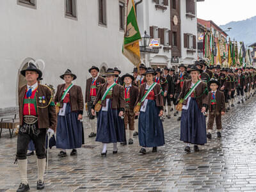
[[[159,117],[159,109],[155,100],[148,100],[146,112],[140,111],[139,141],[142,147],[164,145],[163,123]]]

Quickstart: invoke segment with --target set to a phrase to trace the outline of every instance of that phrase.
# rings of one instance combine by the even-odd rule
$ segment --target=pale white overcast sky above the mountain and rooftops
[[[217,25],[256,16],[255,10],[256,0],[205,0],[197,3],[197,17],[212,20]]]

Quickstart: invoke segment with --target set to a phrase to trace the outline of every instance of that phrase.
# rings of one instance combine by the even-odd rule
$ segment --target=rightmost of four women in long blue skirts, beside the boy
[[[186,143],[186,152],[190,152],[190,144],[194,144],[194,150],[198,152],[198,145],[207,143],[204,113],[208,90],[207,84],[199,79],[202,70],[193,65],[188,72],[191,79],[184,82],[178,99],[182,103],[180,141]]]

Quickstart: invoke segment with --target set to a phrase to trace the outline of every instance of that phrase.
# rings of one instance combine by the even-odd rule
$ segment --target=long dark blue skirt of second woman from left
[[[118,116],[118,109],[111,108],[111,100],[108,103],[108,111],[98,114],[96,141],[102,143],[124,142],[124,120]]]

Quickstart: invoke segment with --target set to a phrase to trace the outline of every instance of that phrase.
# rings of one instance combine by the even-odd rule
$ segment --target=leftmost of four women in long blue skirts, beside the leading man
[[[60,148],[58,156],[66,157],[66,149],[72,149],[70,156],[76,156],[76,148],[83,144],[83,93],[80,86],[72,83],[76,75],[67,70],[60,76],[65,84],[59,84],[54,101],[60,106],[56,130],[56,148]]]

